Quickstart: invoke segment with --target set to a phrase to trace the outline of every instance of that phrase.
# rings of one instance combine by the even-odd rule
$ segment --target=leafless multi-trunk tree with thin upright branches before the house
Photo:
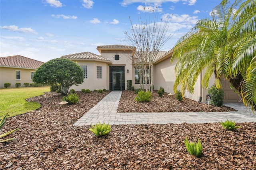
[[[142,87],[143,83],[145,83],[145,89],[147,91],[150,86],[152,87],[153,63],[163,45],[170,40],[172,35],[167,34],[169,28],[168,19],[160,19],[160,21],[158,21],[157,17],[154,17],[151,20],[145,16],[145,21],[140,17],[138,19],[138,24],[133,24],[131,18],[129,19],[132,27],[130,31],[127,31],[124,34],[126,35],[128,43],[130,43],[131,46],[136,47],[136,55],[134,55],[134,57],[136,61],[139,61],[141,64],[139,66],[144,70],[142,71],[142,75],[145,76],[145,82],[143,82],[144,78],[142,78]],[[150,83],[148,85],[147,69]],[[153,88],[151,88],[151,91],[152,90]]]

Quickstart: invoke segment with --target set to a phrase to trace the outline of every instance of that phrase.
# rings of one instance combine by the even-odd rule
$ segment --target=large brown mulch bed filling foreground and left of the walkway
[[[65,118],[60,95],[28,99],[42,108],[7,119],[1,133],[22,128],[9,136],[18,140],[0,144],[0,169],[256,169],[256,123],[237,123],[235,131],[220,123],[112,125],[102,138],[90,126],[74,127],[107,93],[78,92],[80,102],[65,106]],[[201,158],[186,151],[186,136],[200,138]]]

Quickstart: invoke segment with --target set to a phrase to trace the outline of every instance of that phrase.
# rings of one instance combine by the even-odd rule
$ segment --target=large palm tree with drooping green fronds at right
[[[239,7],[239,8],[238,8]],[[238,8],[238,10],[236,10]],[[194,93],[194,85],[201,73],[202,87],[208,88],[212,75],[221,87],[220,79],[227,79],[241,94],[244,104],[256,103],[256,1],[228,0],[212,10],[212,18],[198,21],[194,28],[176,43],[171,62],[175,67],[174,92]]]

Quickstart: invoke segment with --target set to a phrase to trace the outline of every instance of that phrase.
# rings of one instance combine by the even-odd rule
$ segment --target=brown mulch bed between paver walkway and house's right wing
[[[236,111],[236,109],[222,106],[214,107],[206,103],[199,103],[197,101],[188,99],[186,97],[180,102],[174,95],[169,96],[164,93],[160,97],[156,90],[152,93],[150,102],[136,102],[134,98],[136,93],[134,91],[122,91],[122,96],[118,105],[118,113],[129,112],[224,112]]]

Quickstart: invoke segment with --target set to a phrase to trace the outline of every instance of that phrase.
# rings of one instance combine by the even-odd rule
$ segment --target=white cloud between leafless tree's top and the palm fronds
[[[164,20],[168,20],[169,22],[177,23],[196,24],[196,22],[198,22],[198,16],[189,16],[188,14],[164,14],[162,18]]]

